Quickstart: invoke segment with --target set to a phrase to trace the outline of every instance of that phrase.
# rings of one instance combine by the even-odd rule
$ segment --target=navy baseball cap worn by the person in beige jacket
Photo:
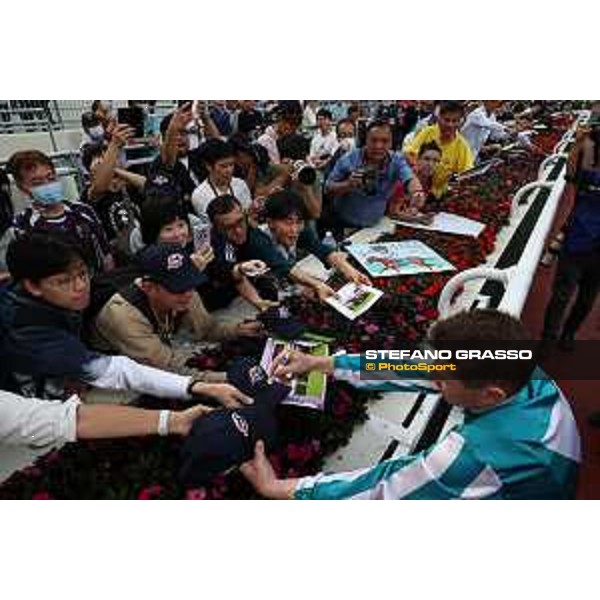
[[[172,294],[188,292],[206,281],[205,275],[179,244],[148,246],[140,253],[139,265],[143,277]]]

